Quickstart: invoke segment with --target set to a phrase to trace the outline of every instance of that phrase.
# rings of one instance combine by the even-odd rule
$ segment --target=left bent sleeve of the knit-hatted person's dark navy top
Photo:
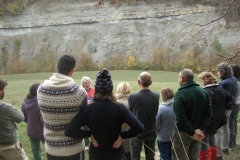
[[[78,114],[68,124],[64,134],[72,138],[86,138],[91,136],[91,131],[82,130],[81,127],[86,125],[85,115],[87,107],[82,107]]]

